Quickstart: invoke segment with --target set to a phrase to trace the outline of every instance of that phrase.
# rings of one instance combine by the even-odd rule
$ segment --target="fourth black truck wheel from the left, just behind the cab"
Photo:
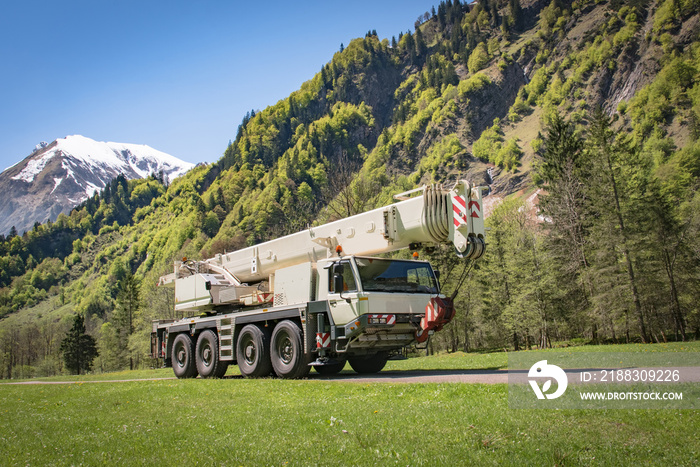
[[[303,378],[311,371],[309,358],[304,355],[301,329],[294,321],[285,320],[275,327],[270,357],[272,367],[280,378]]]

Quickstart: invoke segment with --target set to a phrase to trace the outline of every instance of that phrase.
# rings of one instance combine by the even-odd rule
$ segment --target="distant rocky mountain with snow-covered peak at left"
[[[39,143],[23,161],[0,174],[0,234],[55,221],[117,175],[145,178],[163,171],[172,180],[194,164],[139,144],[105,143],[74,135]]]

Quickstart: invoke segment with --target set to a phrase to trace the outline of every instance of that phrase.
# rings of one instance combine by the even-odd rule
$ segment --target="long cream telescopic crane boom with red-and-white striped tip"
[[[213,271],[242,282],[266,280],[275,271],[343,254],[367,256],[412,245],[452,242],[456,253],[476,259],[484,252],[481,187],[459,181],[447,190],[424,186],[420,196],[280,237],[204,261]],[[416,190],[413,190],[416,191]],[[229,277],[229,282],[231,282]]]

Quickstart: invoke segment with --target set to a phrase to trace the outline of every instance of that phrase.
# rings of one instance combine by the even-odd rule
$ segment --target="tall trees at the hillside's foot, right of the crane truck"
[[[697,339],[700,144],[659,157],[600,109],[587,127],[556,115],[543,140],[539,206],[510,197],[487,218],[464,312],[432,348]],[[444,253],[436,263],[448,290],[468,267]]]

